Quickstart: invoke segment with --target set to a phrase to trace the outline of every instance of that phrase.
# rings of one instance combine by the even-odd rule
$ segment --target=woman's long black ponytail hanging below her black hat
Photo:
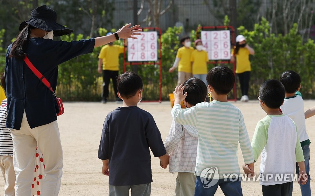
[[[30,40],[31,29],[33,26],[27,24],[25,28],[18,34],[16,40],[13,42],[9,57],[23,59],[26,55],[26,49]]]

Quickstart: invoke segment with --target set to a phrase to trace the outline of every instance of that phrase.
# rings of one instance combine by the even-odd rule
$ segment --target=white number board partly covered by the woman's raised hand
[[[128,61],[157,61],[157,31],[141,32],[138,39],[127,39]]]

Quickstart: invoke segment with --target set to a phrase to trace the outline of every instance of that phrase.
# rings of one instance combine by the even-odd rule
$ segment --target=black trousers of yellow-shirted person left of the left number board
[[[118,76],[118,71],[110,71],[110,70],[103,70],[103,92],[102,92],[102,100],[107,100],[108,97],[108,86],[109,83],[112,79],[113,81],[113,87],[114,87],[114,91],[115,91],[115,96],[116,96],[116,100],[119,100],[119,97],[117,95],[117,76]]]

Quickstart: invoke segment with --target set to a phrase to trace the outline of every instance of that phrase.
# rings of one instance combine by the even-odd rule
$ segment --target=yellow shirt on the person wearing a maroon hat
[[[194,50],[190,59],[192,64],[192,74],[207,74],[208,53],[204,50]]]

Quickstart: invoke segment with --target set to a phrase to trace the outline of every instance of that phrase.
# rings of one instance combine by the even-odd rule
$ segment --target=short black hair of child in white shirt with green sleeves
[[[276,80],[269,79],[261,84],[259,89],[259,98],[267,107],[272,109],[279,108],[285,97],[284,85]]]

